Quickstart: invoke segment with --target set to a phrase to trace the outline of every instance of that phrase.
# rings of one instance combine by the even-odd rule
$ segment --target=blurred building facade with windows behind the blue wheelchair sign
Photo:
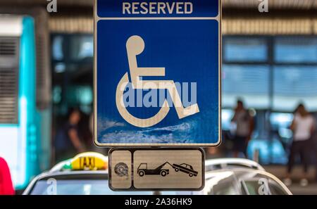
[[[37,75],[49,70],[38,83],[38,98],[44,98],[38,103],[51,106],[53,134],[46,141],[51,144],[68,108],[79,107],[86,119],[92,114],[94,42],[92,0],[57,1],[56,13],[46,11],[48,3],[2,0],[0,13],[35,17],[37,65],[44,69],[37,68]],[[261,163],[285,164],[294,108],[303,102],[317,113],[317,1],[268,0],[268,13],[259,12],[257,0],[222,4],[221,149],[230,149],[232,109],[241,98],[256,122],[249,157],[259,150]]]

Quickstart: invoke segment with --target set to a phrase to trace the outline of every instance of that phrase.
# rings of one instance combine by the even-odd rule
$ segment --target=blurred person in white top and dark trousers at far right
[[[294,119],[290,129],[293,132],[293,141],[290,148],[290,156],[287,165],[287,176],[285,179],[285,184],[290,186],[292,184],[292,179],[290,175],[292,168],[294,166],[294,161],[297,154],[301,157],[301,163],[304,167],[304,177],[301,179],[300,184],[306,186],[308,184],[307,172],[309,167],[309,152],[311,145],[311,137],[315,130],[316,122],[313,116],[306,110],[303,104],[299,106],[294,111]]]

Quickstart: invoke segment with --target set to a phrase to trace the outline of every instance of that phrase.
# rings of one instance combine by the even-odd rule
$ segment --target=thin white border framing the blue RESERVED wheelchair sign
[[[97,1],[94,0],[94,144],[97,146],[102,147],[125,147],[125,146],[219,146],[222,141],[222,134],[221,134],[221,69],[222,69],[222,30],[221,30],[221,20],[222,20],[222,2],[219,1],[218,4],[218,16],[216,17],[192,17],[192,18],[99,18],[97,14]],[[217,20],[218,21],[218,141],[217,143],[207,143],[207,144],[199,144],[199,143],[189,143],[189,144],[182,144],[182,143],[170,143],[170,144],[152,144],[152,143],[99,143],[97,140],[97,22],[99,20]]]

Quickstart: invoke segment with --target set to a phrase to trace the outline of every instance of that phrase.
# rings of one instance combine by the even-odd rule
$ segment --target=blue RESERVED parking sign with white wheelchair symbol
[[[96,0],[94,141],[220,144],[220,2]]]

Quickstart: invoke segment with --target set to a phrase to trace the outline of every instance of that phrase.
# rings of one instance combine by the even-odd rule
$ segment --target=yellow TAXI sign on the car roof
[[[70,161],[72,170],[107,170],[108,158],[101,153],[80,153]]]

